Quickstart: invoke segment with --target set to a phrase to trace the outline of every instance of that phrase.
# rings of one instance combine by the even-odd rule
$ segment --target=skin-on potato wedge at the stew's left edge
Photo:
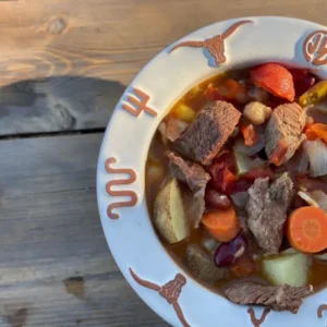
[[[168,243],[175,243],[187,237],[183,198],[175,179],[170,180],[155,199],[154,223]]]

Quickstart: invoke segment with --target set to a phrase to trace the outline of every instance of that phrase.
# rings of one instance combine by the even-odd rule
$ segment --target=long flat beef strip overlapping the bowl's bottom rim
[[[275,311],[296,313],[305,296],[313,292],[312,286],[264,286],[253,281],[235,281],[225,290],[228,300],[237,304],[267,305]]]

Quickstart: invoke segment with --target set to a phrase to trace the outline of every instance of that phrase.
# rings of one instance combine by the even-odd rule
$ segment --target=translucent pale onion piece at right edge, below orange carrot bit
[[[305,150],[308,156],[310,174],[312,177],[325,175],[327,173],[327,145],[320,141],[305,141]]]

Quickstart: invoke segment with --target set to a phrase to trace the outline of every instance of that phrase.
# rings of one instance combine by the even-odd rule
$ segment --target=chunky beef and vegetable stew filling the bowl
[[[327,276],[327,81],[266,63],[187,92],[152,142],[146,196],[169,254],[238,304],[296,313]]]

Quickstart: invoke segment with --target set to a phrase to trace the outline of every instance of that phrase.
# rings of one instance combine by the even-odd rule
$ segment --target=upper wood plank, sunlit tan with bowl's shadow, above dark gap
[[[104,128],[136,72],[181,36],[245,15],[289,15],[324,24],[324,4],[325,0],[230,0],[228,5],[222,0],[0,1],[0,135]]]

